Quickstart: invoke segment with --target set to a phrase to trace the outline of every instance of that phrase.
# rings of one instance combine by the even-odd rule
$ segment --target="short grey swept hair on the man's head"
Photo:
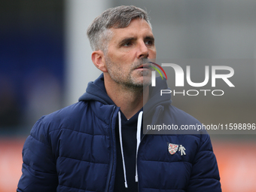
[[[145,20],[151,27],[148,13],[141,8],[130,5],[121,5],[116,8],[108,8],[93,20],[87,29],[87,37],[92,50],[108,50],[108,41],[111,40],[110,28],[125,28],[133,19]]]

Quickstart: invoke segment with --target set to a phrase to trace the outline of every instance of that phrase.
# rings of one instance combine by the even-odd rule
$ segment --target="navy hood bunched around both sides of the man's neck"
[[[150,86],[150,99],[143,107],[144,110],[151,111],[151,109],[155,108],[157,105],[171,104],[171,94],[163,94],[163,96],[160,96],[160,90],[169,90],[166,84],[166,78],[163,78],[162,80],[160,77],[157,77],[156,87]],[[79,101],[91,100],[102,102],[105,105],[114,105],[114,102],[106,93],[103,73],[99,75],[99,78],[97,78],[95,81],[89,82],[86,93],[79,98]]]

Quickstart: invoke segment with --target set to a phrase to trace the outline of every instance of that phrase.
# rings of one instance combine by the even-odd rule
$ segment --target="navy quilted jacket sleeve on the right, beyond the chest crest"
[[[217,160],[208,134],[201,135],[200,147],[194,158],[187,192],[221,192]]]

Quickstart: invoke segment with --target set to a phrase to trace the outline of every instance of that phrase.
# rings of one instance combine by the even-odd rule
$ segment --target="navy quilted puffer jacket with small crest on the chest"
[[[118,108],[105,93],[103,76],[90,82],[78,103],[35,123],[23,147],[17,191],[113,191]],[[166,89],[166,84],[157,89]],[[198,124],[170,105],[170,96],[145,105],[154,123]],[[168,94],[169,95],[169,94]],[[157,103],[156,103],[157,102]],[[145,114],[147,113],[145,112]],[[184,146],[169,153],[168,143]],[[221,191],[218,166],[207,134],[145,134],[139,145],[139,191]],[[120,175],[118,175],[120,176]]]

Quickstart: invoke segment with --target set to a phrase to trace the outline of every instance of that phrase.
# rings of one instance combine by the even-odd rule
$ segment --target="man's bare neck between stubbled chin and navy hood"
[[[121,84],[112,86],[105,83],[108,96],[123,112],[127,119],[133,117],[148,101],[149,87],[125,87]]]

